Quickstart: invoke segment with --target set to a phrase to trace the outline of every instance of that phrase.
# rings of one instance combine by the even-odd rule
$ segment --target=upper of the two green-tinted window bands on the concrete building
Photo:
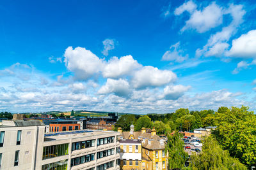
[[[61,145],[44,146],[43,160],[68,155],[68,143]]]

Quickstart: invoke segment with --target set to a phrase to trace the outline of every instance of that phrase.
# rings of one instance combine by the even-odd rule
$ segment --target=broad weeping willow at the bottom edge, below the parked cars
[[[227,150],[222,150],[212,136],[204,139],[202,150],[203,152],[199,155],[194,154],[191,156],[191,163],[189,165],[191,169],[247,169],[238,159],[230,157]]]

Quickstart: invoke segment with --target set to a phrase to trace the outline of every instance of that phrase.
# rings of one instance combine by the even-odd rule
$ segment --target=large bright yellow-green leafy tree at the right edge
[[[247,166],[256,166],[256,115],[248,107],[221,108],[212,132],[224,150]]]

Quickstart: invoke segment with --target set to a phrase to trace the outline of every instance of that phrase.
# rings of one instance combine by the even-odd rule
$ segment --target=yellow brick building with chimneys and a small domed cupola
[[[120,169],[168,169],[168,154],[164,150],[166,141],[156,135],[155,129],[142,128],[141,131],[134,132],[134,125],[131,125],[130,132],[122,132],[121,128],[118,128],[118,132],[121,134],[119,137]],[[136,143],[135,145],[138,146],[131,145],[130,143]],[[129,156],[125,155],[128,151],[130,153]],[[132,159],[131,162],[130,158],[134,158],[135,161]]]

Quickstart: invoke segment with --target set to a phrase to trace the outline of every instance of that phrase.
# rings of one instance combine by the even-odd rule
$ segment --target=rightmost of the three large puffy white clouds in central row
[[[177,76],[169,70],[159,70],[157,67],[145,66],[134,73],[132,85],[136,89],[159,87],[175,81]]]

